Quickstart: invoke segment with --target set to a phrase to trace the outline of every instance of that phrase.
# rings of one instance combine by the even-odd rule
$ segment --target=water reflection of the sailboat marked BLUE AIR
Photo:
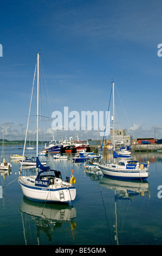
[[[73,231],[76,229],[76,222],[74,221],[76,218],[76,210],[74,207],[64,204],[44,205],[42,203],[32,202],[24,197],[20,205],[20,212],[22,216],[25,245],[28,244],[27,233],[30,229],[27,225],[31,223],[31,220],[35,220],[38,244],[40,243],[39,238],[42,232],[47,235],[49,241],[52,241],[51,233],[55,229],[61,228],[63,223],[67,222],[70,224],[74,239]]]

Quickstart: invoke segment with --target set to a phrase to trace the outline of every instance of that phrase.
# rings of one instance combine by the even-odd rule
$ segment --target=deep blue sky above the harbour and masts
[[[161,138],[161,11],[159,0],[3,1],[0,127],[5,138],[24,139],[40,49],[51,112],[64,106],[79,113],[106,111],[113,79],[120,119],[116,129],[147,138],[154,137],[155,126]],[[83,131],[80,138],[100,137]]]

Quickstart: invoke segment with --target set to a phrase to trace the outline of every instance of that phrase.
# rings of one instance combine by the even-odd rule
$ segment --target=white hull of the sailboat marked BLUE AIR
[[[60,185],[56,188],[53,186],[37,187],[26,182],[26,178],[27,177],[23,178],[22,176],[22,178],[18,179],[18,183],[21,185],[24,196],[30,200],[35,202],[60,202],[71,204],[72,200],[75,199],[76,188],[74,186],[62,187]]]

